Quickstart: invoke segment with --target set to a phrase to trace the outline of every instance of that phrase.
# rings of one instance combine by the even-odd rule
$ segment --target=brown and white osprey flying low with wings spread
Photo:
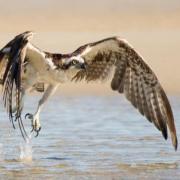
[[[132,105],[153,122],[177,149],[174,117],[168,98],[156,75],[143,58],[123,39],[111,37],[79,47],[70,54],[42,51],[30,40],[33,32],[17,35],[0,50],[3,101],[13,124],[17,121],[26,139],[23,126],[23,97],[30,89],[44,92],[34,114],[25,118],[32,122],[36,136],[41,130],[39,115],[47,99],[61,83],[70,81],[104,81],[112,75],[111,88],[124,93]],[[44,84],[47,88],[44,90]]]

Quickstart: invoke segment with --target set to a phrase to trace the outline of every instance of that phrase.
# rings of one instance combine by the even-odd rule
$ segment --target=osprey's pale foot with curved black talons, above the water
[[[32,123],[32,130],[31,132],[36,132],[36,135],[35,137],[37,137],[39,135],[39,132],[41,130],[41,124],[40,124],[40,120],[39,120],[39,116],[38,115],[33,115],[33,114],[30,114],[30,113],[27,113],[25,115],[25,119],[28,118],[31,120],[31,123]]]

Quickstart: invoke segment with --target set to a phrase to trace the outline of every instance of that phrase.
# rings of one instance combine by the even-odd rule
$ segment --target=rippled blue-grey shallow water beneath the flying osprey
[[[28,97],[25,111],[34,112],[38,99]],[[180,98],[170,100],[179,132]],[[180,177],[179,150],[122,96],[53,97],[41,113],[39,137],[28,144],[0,111],[0,179]]]

